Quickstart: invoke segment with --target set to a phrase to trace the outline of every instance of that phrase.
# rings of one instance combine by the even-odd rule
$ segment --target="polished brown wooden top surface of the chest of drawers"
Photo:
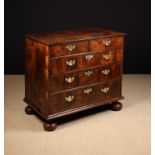
[[[125,33],[114,32],[102,28],[87,28],[69,31],[57,31],[44,34],[27,34],[25,37],[31,38],[46,45],[51,45],[122,35],[125,35]]]

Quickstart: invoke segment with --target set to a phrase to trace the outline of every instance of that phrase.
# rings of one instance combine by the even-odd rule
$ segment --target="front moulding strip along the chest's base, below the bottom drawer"
[[[67,110],[67,111],[51,114],[51,115],[48,116],[47,120],[50,121],[51,119],[60,118],[60,117],[67,116],[67,115],[70,115],[70,114],[78,113],[80,111],[84,111],[84,110],[88,110],[88,109],[91,109],[91,108],[99,107],[99,106],[102,106],[102,105],[105,105],[105,104],[109,104],[109,102],[111,103],[111,102],[118,101],[118,100],[121,100],[121,99],[124,99],[124,97],[123,96],[113,97],[113,98],[103,100],[101,102],[97,102],[95,104],[88,104],[88,105],[77,107],[77,108],[70,109],[70,110]]]

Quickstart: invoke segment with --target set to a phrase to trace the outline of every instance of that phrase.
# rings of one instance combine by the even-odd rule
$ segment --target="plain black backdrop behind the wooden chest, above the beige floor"
[[[150,73],[150,0],[5,0],[5,74],[24,74],[24,34],[82,27],[126,32],[124,73]]]

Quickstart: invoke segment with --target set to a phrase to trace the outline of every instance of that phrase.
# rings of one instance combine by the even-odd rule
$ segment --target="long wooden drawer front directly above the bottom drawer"
[[[97,67],[95,69],[66,73],[62,75],[52,75],[50,76],[51,93],[96,82],[115,79],[120,77],[120,75],[121,64],[106,65]]]

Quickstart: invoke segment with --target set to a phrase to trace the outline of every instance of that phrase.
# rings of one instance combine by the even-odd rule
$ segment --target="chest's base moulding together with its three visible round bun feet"
[[[36,114],[38,114],[41,117],[40,119],[42,119],[42,118],[44,119],[43,120],[43,122],[44,122],[43,123],[44,130],[46,130],[46,131],[54,131],[57,128],[56,118],[60,118],[60,117],[63,117],[63,116],[67,116],[67,115],[70,115],[70,114],[78,113],[80,111],[92,109],[92,108],[99,107],[99,106],[102,106],[102,105],[107,105],[107,104],[110,105],[108,107],[110,107],[111,110],[119,111],[119,110],[122,109],[122,104],[120,102],[118,102],[118,100],[121,100],[121,99],[124,99],[124,97],[120,96],[120,97],[114,97],[114,98],[106,99],[106,100],[104,100],[102,102],[81,106],[81,107],[74,108],[74,109],[71,109],[71,110],[51,114],[49,116],[44,116],[34,106],[32,106],[32,103],[28,102],[26,99],[24,99],[24,101],[28,104],[28,106],[25,108],[26,114],[30,115],[30,114],[33,114],[33,112],[35,112]]]

